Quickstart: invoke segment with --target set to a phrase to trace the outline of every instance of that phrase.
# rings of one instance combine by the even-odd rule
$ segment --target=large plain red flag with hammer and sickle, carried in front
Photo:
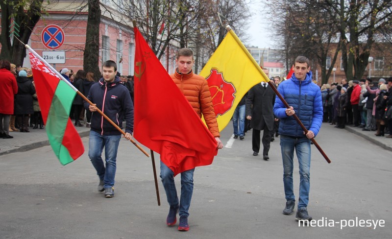
[[[217,142],[135,27],[134,137],[177,175],[210,165]]]

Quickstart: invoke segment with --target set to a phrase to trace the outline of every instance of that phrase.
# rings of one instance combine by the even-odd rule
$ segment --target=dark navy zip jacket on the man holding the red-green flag
[[[87,98],[97,104],[109,119],[113,120],[120,128],[123,125],[125,116],[125,133],[133,134],[133,104],[128,89],[120,81],[118,76],[111,83],[106,83],[103,78],[98,83],[93,84]],[[89,103],[84,102],[84,108],[89,110]],[[91,130],[101,135],[120,135],[116,129],[98,112],[93,112],[91,116]]]

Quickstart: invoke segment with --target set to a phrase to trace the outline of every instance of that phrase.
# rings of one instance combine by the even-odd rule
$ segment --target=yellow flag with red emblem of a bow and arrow
[[[238,103],[252,86],[270,81],[231,29],[200,75],[210,87],[219,131],[229,123]]]

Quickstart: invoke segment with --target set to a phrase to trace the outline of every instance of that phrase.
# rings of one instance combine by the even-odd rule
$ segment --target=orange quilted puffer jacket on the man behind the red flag
[[[214,137],[220,137],[218,122],[212,105],[207,81],[200,75],[194,74],[192,71],[188,74],[180,74],[176,71],[170,76],[196,111],[197,115],[201,118],[201,114],[203,114],[211,134]]]

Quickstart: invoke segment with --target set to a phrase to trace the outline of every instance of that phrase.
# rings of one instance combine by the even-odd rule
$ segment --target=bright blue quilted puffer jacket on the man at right
[[[312,72],[306,74],[306,79],[298,80],[295,75],[280,83],[278,92],[293,106],[295,114],[305,128],[313,131],[315,136],[319,133],[322,123],[322,99],[318,85],[312,82]],[[305,137],[301,126],[294,117],[288,117],[286,107],[276,96],[273,113],[280,118],[279,133],[292,137]]]

